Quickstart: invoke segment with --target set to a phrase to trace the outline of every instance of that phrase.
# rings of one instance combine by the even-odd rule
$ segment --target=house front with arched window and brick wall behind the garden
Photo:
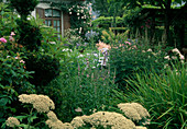
[[[70,15],[68,12],[63,12],[57,7],[52,7],[52,1],[55,3],[69,3],[74,1],[85,1],[85,0],[38,0],[40,3],[36,5],[32,15],[36,17],[36,14],[41,19],[44,19],[45,25],[53,26],[59,35],[64,36],[65,30],[70,27]]]

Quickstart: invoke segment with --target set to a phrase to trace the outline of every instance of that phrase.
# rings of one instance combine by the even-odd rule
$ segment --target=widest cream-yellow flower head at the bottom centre
[[[134,122],[118,113],[98,112],[90,116],[81,117],[85,122],[111,129],[135,129]]]

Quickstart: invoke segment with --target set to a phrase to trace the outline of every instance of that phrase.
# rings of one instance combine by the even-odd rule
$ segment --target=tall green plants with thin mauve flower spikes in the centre
[[[89,51],[69,50],[68,60],[58,78],[37,89],[38,94],[46,94],[54,101],[55,113],[63,121],[70,121],[78,115],[90,115],[92,110],[110,105],[109,96],[114,87],[109,71],[99,70],[97,57]],[[82,112],[76,112],[77,108]]]

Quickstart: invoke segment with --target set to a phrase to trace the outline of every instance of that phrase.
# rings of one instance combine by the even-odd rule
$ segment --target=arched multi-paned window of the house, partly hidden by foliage
[[[58,38],[62,35],[61,11],[55,9],[36,9],[40,17],[45,20],[45,25],[53,26],[57,31]]]

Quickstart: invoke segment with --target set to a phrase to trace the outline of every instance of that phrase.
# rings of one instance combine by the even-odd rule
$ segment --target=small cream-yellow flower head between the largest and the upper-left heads
[[[51,129],[74,129],[74,127],[68,124],[65,122],[63,124],[53,112],[50,112],[47,114],[48,119],[45,121],[46,125],[48,125],[48,127]]]

